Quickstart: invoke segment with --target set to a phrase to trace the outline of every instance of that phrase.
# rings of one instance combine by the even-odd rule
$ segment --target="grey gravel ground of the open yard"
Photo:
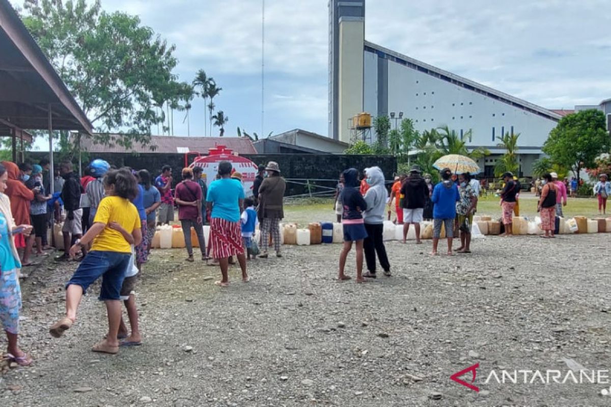
[[[334,281],[338,245],[285,247],[249,263],[251,283],[233,268],[227,289],[218,268],[155,251],[137,287],[144,345],[116,356],[90,351],[106,326],[93,295],[49,336],[74,267],[49,262],[23,281],[35,364],[0,378],[0,406],[609,405],[609,384],[485,383],[492,369],[564,375],[562,358],[609,369],[608,242],[486,237],[436,258],[430,241],[389,242],[394,276],[363,285]],[[450,380],[477,362],[480,392]]]

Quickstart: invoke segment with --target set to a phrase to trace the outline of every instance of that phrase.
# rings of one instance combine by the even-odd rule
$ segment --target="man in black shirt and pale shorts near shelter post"
[[[64,208],[68,212],[62,234],[64,235],[64,255],[58,258],[59,260],[70,259],[68,249],[72,247],[77,239],[82,236],[82,209],[81,209],[81,194],[83,193],[81,181],[76,173],[72,171],[71,162],[62,162],[59,166],[60,174],[64,178],[64,187],[62,188],[62,201]],[[86,248],[82,248],[82,256],[87,254]]]

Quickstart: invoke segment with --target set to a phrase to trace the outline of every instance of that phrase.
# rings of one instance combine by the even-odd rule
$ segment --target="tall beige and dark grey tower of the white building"
[[[329,0],[329,137],[349,142],[363,111],[365,0]]]

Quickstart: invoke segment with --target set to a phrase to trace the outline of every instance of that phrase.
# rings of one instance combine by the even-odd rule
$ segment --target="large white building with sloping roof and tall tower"
[[[472,130],[468,146],[489,149],[480,167],[492,176],[504,152],[500,135],[519,133],[520,172],[531,175],[562,115],[365,41],[364,0],[331,0],[329,16],[329,137],[350,142],[348,123],[358,113],[403,112],[419,131]]]

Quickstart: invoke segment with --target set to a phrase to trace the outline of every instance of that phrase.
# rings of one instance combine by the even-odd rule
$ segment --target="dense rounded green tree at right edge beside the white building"
[[[571,168],[577,181],[582,168],[594,167],[596,157],[608,151],[605,115],[596,109],[582,110],[560,119],[543,145],[543,152],[552,162]]]

